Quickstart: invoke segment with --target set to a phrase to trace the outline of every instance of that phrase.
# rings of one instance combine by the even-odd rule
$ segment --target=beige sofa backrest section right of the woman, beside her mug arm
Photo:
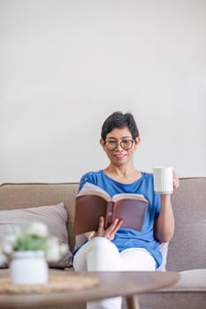
[[[175,233],[167,269],[206,268],[206,177],[181,178],[172,194]]]

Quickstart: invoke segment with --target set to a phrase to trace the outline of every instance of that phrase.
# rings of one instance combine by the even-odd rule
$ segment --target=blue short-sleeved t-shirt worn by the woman
[[[79,192],[86,183],[98,185],[104,191],[108,192],[111,197],[123,192],[144,195],[149,201],[149,206],[141,231],[120,228],[112,242],[118,247],[119,252],[127,248],[145,248],[156,260],[156,268],[158,268],[162,262],[162,254],[159,251],[159,242],[154,235],[154,222],[159,215],[161,204],[159,195],[154,192],[153,174],[141,172],[141,178],[134,183],[121,184],[108,177],[103,170],[91,171],[80,178]]]

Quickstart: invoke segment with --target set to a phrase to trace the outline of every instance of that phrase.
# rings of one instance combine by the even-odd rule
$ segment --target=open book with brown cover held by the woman
[[[74,233],[80,235],[97,230],[101,215],[105,229],[118,218],[123,220],[121,227],[141,230],[148,204],[141,194],[119,193],[111,199],[97,185],[86,183],[76,197]]]

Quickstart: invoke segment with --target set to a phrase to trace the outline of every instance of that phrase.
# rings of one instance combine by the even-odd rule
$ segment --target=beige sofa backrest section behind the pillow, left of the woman
[[[61,201],[68,211],[67,230],[70,248],[74,246],[73,219],[78,184],[3,184],[0,185],[0,210],[55,205]]]

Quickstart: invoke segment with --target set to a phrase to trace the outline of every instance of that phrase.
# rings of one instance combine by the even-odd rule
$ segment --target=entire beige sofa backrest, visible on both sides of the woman
[[[73,248],[73,219],[77,183],[0,185],[0,210],[54,205],[68,210],[68,232]],[[206,177],[180,178],[172,194],[175,234],[169,245],[167,269],[206,268]]]

